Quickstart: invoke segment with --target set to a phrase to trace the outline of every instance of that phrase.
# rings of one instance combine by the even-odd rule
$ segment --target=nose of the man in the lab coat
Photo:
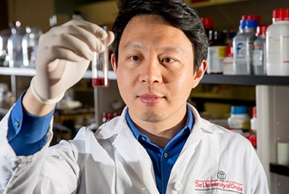
[[[162,65],[159,61],[145,61],[140,69],[140,82],[143,84],[160,83],[162,81]]]

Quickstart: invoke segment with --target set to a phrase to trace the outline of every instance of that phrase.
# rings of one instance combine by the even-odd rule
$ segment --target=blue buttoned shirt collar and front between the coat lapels
[[[149,137],[140,131],[133,125],[132,119],[126,112],[126,122],[132,130],[135,138],[140,142],[140,144],[147,150],[149,157],[154,166],[154,172],[157,182],[157,190],[160,194],[165,194],[167,182],[169,181],[170,174],[174,163],[179,157],[181,150],[186,143],[189,133],[191,133],[194,125],[194,117],[189,105],[187,105],[187,124],[184,128],[177,133],[171,141],[167,143],[165,149],[160,148],[155,143],[149,141]]]

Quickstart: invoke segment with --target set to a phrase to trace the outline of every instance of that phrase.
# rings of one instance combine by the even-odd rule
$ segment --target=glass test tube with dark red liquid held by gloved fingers
[[[102,26],[108,31],[107,26]],[[92,86],[93,87],[108,87],[108,42],[107,38],[102,41],[105,50],[102,53],[94,52],[92,60]]]

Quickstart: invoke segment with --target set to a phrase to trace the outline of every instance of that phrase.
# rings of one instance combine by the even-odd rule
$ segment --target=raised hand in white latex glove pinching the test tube
[[[49,104],[60,101],[63,94],[83,76],[93,58],[101,53],[101,40],[114,34],[84,20],[70,20],[40,36],[36,58],[36,77],[31,81],[37,100]]]

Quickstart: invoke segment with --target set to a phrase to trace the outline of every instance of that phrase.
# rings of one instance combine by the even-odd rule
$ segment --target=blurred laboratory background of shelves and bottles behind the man
[[[205,77],[188,102],[251,141],[270,193],[289,193],[289,0],[185,2],[197,10],[209,41]],[[36,74],[39,36],[75,18],[111,29],[116,12],[114,0],[0,0],[0,119]],[[91,64],[58,102],[52,144],[83,125],[94,131],[124,108],[111,67],[105,85],[93,73]]]

